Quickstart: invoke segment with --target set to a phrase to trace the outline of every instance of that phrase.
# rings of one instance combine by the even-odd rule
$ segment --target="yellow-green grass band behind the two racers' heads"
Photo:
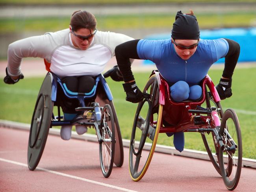
[[[249,27],[256,20],[256,12],[196,14],[201,29]],[[99,30],[172,28],[174,13],[142,15],[95,15]],[[0,34],[28,31],[58,31],[69,27],[70,17],[0,18]]]

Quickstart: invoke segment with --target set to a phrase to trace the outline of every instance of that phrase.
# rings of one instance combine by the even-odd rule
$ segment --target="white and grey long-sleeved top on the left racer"
[[[41,57],[58,76],[96,76],[115,56],[115,47],[130,40],[133,38],[120,33],[97,31],[89,48],[80,50],[72,44],[69,29],[28,37],[9,44],[8,74],[20,74],[23,57]]]

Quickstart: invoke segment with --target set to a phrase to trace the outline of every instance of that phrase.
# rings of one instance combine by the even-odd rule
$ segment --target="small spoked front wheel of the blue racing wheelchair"
[[[113,168],[115,154],[115,119],[109,104],[102,109],[100,119],[100,166],[104,177],[109,177]]]

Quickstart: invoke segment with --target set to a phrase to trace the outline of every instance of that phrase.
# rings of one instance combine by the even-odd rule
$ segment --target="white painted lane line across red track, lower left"
[[[8,159],[0,158],[0,161],[9,162],[9,163],[20,165],[20,166],[24,166],[24,167],[28,166],[27,164],[24,164],[24,163],[21,163],[21,162],[17,162],[17,161],[11,161],[11,160],[8,160]],[[85,181],[85,182],[93,183],[93,184],[96,184],[96,185],[102,185],[102,186],[106,186],[106,187],[109,187],[109,188],[118,189],[118,190],[121,190],[121,191],[137,192],[137,191],[126,189],[126,188],[122,188],[122,187],[119,187],[119,186],[109,185],[109,184],[106,184],[106,183],[102,183],[102,182],[98,182],[98,181],[93,181],[93,180],[85,179],[85,178],[82,178],[82,177],[76,177],[74,175],[63,174],[63,173],[60,173],[60,172],[56,172],[56,171],[52,171],[52,170],[48,170],[48,169],[44,169],[44,168],[40,168],[40,167],[37,167],[37,169],[45,171],[45,172],[48,172],[48,173],[51,173],[51,174],[61,175],[63,177],[69,177],[69,178],[72,178],[72,179],[78,179],[80,181]]]

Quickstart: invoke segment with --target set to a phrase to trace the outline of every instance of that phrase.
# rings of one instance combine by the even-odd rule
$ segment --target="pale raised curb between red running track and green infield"
[[[25,130],[25,131],[30,130],[30,124],[13,122],[13,121],[9,121],[9,120],[1,120],[0,119],[0,126],[6,127],[6,128],[12,128],[12,129],[20,129],[20,130]],[[60,133],[60,129],[50,128],[50,130],[49,130],[50,135],[58,135],[59,136],[59,133]],[[72,131],[71,138],[85,140],[85,141],[91,141],[91,142],[98,142],[98,138],[96,137],[96,135],[88,134],[88,133],[85,133],[83,135],[78,135],[76,133],[76,131]],[[122,142],[123,142],[124,147],[130,146],[130,140],[122,139]],[[150,150],[150,146],[147,143],[145,143],[145,149]],[[204,151],[184,149],[184,151],[182,151],[182,153],[180,153],[174,147],[159,145],[159,144],[156,145],[155,151],[160,152],[160,153],[167,153],[167,154],[171,154],[171,155],[179,155],[179,156],[183,156],[183,157],[189,157],[189,158],[194,158],[194,159],[202,159],[202,160],[210,161],[207,152],[204,152]],[[216,157],[216,155],[213,155],[213,156]],[[243,165],[243,167],[256,168],[256,159],[243,158],[242,165]]]

